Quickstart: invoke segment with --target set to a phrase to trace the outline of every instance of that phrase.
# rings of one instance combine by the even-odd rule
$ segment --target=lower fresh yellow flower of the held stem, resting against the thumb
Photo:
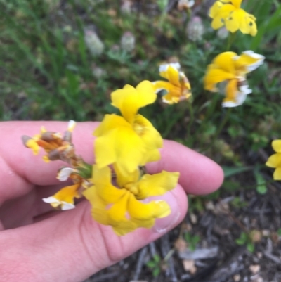
[[[98,169],[93,165],[93,184],[84,191],[92,205],[92,216],[100,224],[110,225],[117,235],[122,236],[138,227],[150,229],[155,219],[166,217],[171,210],[164,200],[142,203],[150,196],[161,196],[176,186],[178,172],[145,174],[140,178],[138,169],[124,176],[115,167],[117,185],[112,185],[109,167]]]

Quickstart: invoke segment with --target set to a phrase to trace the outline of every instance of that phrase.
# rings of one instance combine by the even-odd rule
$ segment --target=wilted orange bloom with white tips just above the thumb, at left
[[[60,189],[55,195],[43,198],[45,203],[51,204],[52,207],[60,208],[61,210],[71,210],[74,209],[74,198],[80,198],[79,193],[80,183],[74,184],[72,186],[66,186]]]

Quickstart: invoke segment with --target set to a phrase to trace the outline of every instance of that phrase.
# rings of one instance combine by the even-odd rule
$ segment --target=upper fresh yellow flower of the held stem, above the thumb
[[[159,160],[163,140],[159,132],[138,109],[156,99],[151,82],[126,85],[112,93],[112,105],[119,108],[119,115],[105,115],[93,133],[98,168],[116,164],[122,174],[132,173],[138,165]]]

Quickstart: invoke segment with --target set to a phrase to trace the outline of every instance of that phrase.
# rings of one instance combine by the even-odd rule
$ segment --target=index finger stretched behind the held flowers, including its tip
[[[1,200],[21,196],[30,191],[30,183],[37,185],[58,184],[55,179],[58,168],[65,165],[56,161],[46,164],[33,156],[21,143],[24,134],[34,135],[43,125],[46,129],[63,132],[67,127],[66,122],[2,122],[0,132],[4,136],[0,140],[0,177],[4,184],[0,186]],[[86,162],[93,162],[93,129],[96,122],[82,122],[77,124],[73,132],[73,143],[77,153]],[[13,146],[13,150],[11,150]],[[162,169],[178,171],[181,173],[180,183],[185,191],[194,194],[211,193],[221,185],[223,172],[215,162],[196,153],[174,141],[165,141],[162,149],[162,160],[148,165],[151,172]],[[5,187],[12,187],[5,189]]]

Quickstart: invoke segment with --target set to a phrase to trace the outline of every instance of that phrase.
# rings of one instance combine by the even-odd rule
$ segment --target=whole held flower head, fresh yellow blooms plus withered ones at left
[[[93,135],[96,163],[89,165],[76,155],[72,144],[74,122],[70,121],[64,136],[41,129],[34,137],[23,136],[27,148],[35,155],[39,148],[47,153],[45,161],[63,160],[70,167],[58,171],[60,181],[72,179],[53,196],[44,198],[45,203],[61,210],[75,207],[75,198],[85,196],[92,205],[92,216],[96,222],[112,226],[119,236],[143,227],[150,229],[155,219],[166,217],[171,210],[164,200],[152,200],[173,189],[178,172],[162,171],[147,174],[145,165],[160,159],[159,148],[162,136],[138,110],[154,103],[157,95],[149,81],[136,88],[124,86],[112,92],[112,105],[122,115],[105,115]]]

